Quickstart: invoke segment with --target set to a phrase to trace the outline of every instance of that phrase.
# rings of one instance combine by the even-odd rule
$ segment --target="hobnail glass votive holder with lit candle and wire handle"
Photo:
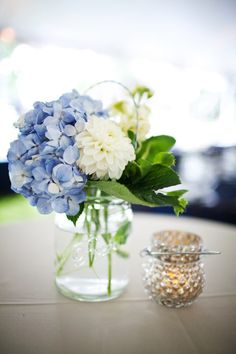
[[[149,297],[167,307],[191,305],[205,284],[201,250],[201,238],[195,234],[174,230],[154,234],[143,263]]]

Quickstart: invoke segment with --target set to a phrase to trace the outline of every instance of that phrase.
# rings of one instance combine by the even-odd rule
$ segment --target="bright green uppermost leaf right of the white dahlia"
[[[142,142],[136,159],[148,160],[155,163],[158,153],[169,151],[175,144],[175,139],[168,135],[152,136]]]

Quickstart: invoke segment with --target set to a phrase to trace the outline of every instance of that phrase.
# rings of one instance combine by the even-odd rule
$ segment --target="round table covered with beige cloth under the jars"
[[[139,251],[153,232],[192,231],[205,247],[206,288],[190,307],[168,309],[144,293]],[[0,353],[236,353],[236,228],[189,217],[135,213],[130,284],[118,299],[77,302],[54,286],[54,223],[0,226]]]

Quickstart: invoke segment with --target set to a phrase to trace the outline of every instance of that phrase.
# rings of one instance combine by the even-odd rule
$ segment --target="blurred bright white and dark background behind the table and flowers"
[[[236,224],[235,0],[0,0],[0,222],[37,213],[10,191],[13,122],[106,79],[154,91],[151,134],[177,139],[186,214]]]

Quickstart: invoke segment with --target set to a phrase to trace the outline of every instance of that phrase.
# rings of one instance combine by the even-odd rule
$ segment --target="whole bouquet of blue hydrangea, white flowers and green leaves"
[[[52,102],[36,102],[16,123],[18,139],[8,152],[12,189],[40,213],[65,213],[74,223],[83,211],[88,188],[132,204],[172,206],[182,213],[185,190],[173,170],[170,136],[146,138],[152,96],[146,87],[104,109],[102,102],[66,93]]]

